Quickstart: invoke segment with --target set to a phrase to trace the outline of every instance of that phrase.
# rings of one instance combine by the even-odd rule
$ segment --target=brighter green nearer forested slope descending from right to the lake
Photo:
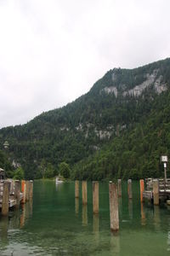
[[[156,98],[150,113],[99,152],[74,166],[74,178],[164,177],[162,154],[170,155],[170,92]],[[169,166],[167,166],[169,168]],[[170,177],[169,172],[167,172]]]

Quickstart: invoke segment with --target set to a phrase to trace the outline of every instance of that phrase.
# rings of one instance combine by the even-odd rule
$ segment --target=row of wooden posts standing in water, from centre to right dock
[[[143,202],[143,192],[144,192],[144,180],[139,181],[140,186],[140,201]],[[132,180],[127,180],[127,194],[128,199],[132,200],[133,190],[132,190]],[[79,197],[79,181],[75,181],[75,197]],[[110,221],[111,230],[119,230],[119,209],[118,209],[118,197],[122,197],[122,180],[118,179],[116,183],[109,183],[109,200],[110,200]],[[88,189],[87,181],[82,181],[82,204],[88,203]],[[93,182],[93,212],[94,214],[99,213],[99,182]]]

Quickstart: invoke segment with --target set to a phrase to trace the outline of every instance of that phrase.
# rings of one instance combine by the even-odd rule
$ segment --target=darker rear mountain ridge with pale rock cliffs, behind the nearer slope
[[[169,58],[135,69],[114,68],[65,107],[1,129],[0,143],[9,141],[10,157],[26,168],[26,177],[40,176],[31,169],[42,160],[56,169],[62,161],[73,167],[149,116],[169,86]]]

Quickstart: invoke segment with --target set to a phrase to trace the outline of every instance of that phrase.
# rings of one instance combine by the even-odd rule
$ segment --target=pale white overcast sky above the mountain
[[[0,0],[0,127],[170,55],[169,0]]]

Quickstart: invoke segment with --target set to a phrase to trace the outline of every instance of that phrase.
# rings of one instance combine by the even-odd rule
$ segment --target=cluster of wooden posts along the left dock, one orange
[[[11,193],[11,185],[14,183],[14,193]],[[33,196],[33,181],[19,180],[3,182],[2,215],[8,215],[10,201],[14,201],[14,207],[18,208]]]

